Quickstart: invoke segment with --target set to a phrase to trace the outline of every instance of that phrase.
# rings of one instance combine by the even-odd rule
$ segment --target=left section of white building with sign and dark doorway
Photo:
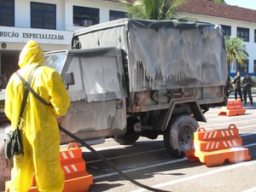
[[[122,10],[119,3],[103,0],[1,0],[0,75],[9,78],[17,70],[29,39],[44,51],[71,49],[74,30],[122,18]]]

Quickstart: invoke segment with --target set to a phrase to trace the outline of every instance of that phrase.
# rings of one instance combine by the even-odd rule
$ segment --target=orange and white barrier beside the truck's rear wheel
[[[236,125],[228,129],[206,131],[200,127],[194,133],[192,148],[186,151],[190,162],[200,160],[206,166],[222,165],[225,160],[235,163],[251,160],[247,148],[242,148],[242,140]]]

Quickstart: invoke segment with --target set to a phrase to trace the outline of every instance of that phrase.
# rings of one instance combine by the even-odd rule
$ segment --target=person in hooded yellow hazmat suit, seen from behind
[[[23,113],[21,132],[24,154],[15,155],[9,181],[10,192],[26,192],[32,187],[33,172],[38,191],[61,192],[65,182],[60,162],[60,134],[56,116],[69,107],[65,85],[59,73],[44,66],[44,52],[30,40],[20,52],[19,73],[28,79],[32,68],[38,67],[32,79],[32,89],[51,104],[44,105],[29,93]],[[25,85],[14,73],[6,89],[5,113],[15,130]]]

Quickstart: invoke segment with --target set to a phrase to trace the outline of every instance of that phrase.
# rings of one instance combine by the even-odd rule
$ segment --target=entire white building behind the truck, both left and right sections
[[[224,25],[227,34],[245,38],[248,64],[239,69],[233,65],[230,72],[256,73],[256,10],[189,0],[180,9],[180,16]],[[45,51],[71,49],[74,30],[123,17],[124,9],[118,0],[1,0],[0,74],[15,72],[20,49],[29,39],[37,41]]]

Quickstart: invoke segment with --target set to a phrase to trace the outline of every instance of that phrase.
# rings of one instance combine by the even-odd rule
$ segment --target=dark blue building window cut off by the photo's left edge
[[[15,26],[15,0],[0,0],[0,26]]]

